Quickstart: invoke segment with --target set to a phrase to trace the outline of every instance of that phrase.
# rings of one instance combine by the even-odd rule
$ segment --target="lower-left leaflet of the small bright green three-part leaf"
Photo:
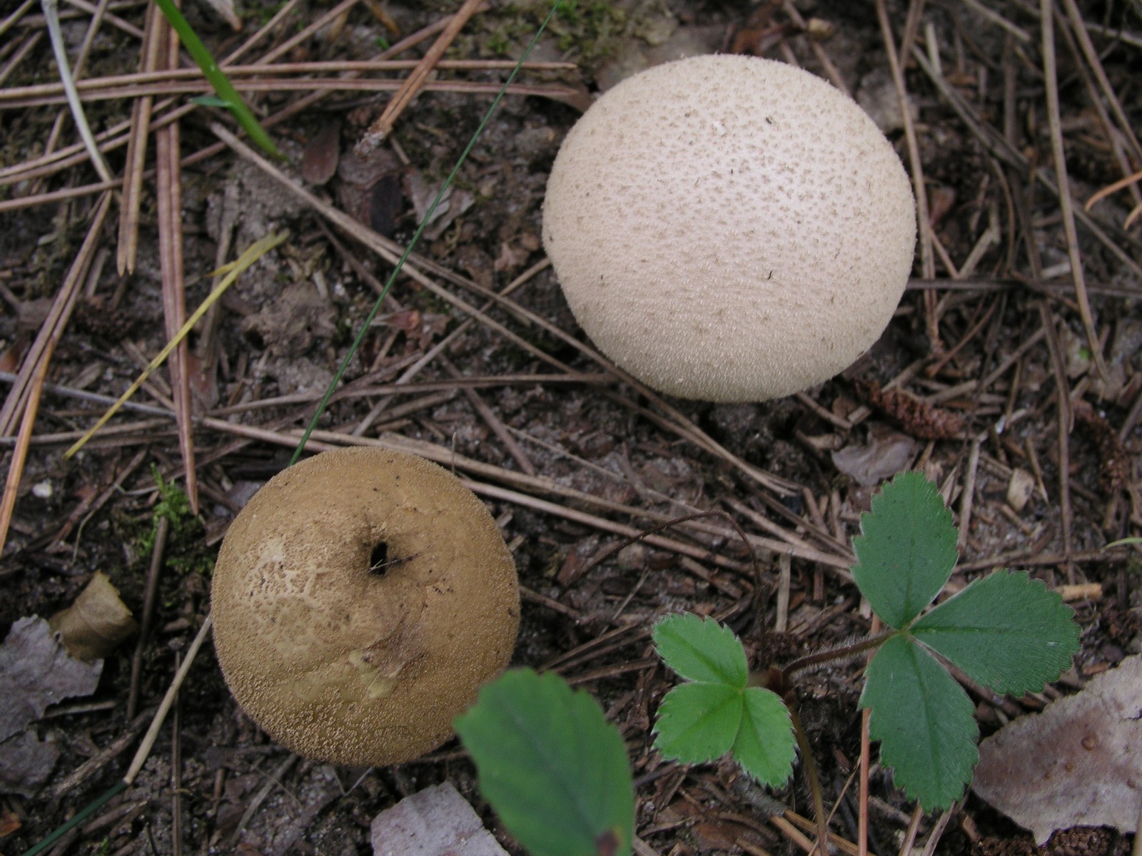
[[[667,758],[700,764],[733,746],[741,724],[742,691],[725,684],[679,684],[658,709],[654,746]]]

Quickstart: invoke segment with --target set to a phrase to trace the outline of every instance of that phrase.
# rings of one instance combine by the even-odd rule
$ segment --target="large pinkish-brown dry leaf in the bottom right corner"
[[[1134,832],[1142,800],[1142,657],[980,744],[972,788],[1044,843],[1055,830]]]

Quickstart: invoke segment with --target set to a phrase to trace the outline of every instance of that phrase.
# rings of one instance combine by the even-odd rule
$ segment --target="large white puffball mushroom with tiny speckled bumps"
[[[872,120],[743,56],[659,65],[560,148],[544,245],[598,348],[660,391],[764,401],[851,365],[908,282],[915,202]]]

